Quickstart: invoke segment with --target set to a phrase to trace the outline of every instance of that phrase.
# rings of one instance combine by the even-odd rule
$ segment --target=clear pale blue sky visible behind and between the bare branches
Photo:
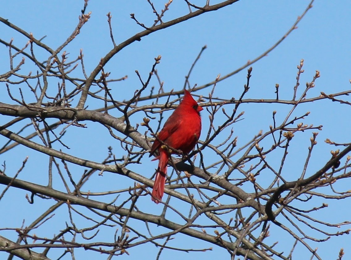
[[[203,5],[205,0],[194,1],[194,4]],[[220,1],[211,1],[215,4]],[[165,1],[154,1],[157,9],[164,7]],[[198,86],[213,81],[218,74],[226,75],[236,68],[244,65],[248,60],[253,60],[266,49],[270,48],[277,40],[279,40],[292,26],[301,15],[309,1],[245,1],[241,0],[237,3],[220,9],[215,12],[200,15],[194,19],[177,24],[173,27],[155,32],[140,42],[133,42],[121,52],[116,54],[110,62],[105,66],[106,72],[111,72],[112,78],[120,78],[128,75],[128,79],[109,85],[112,88],[114,96],[118,99],[130,99],[135,89],[140,88],[140,82],[135,74],[138,70],[143,79],[146,79],[150,71],[154,58],[158,55],[162,56],[161,63],[157,66],[158,74],[164,81],[164,89],[169,91],[174,88],[179,90],[184,85],[184,76],[187,74],[193,60],[198,55],[201,47],[207,46],[203,52],[201,59],[198,61],[193,73],[191,74],[191,85]],[[83,1],[16,1],[16,6],[10,1],[1,3],[0,16],[8,19],[13,24],[19,26],[27,32],[32,32],[39,39],[46,35],[43,42],[52,48],[58,47],[75,28],[78,22],[78,16],[82,9]],[[311,81],[316,70],[320,71],[321,77],[316,81],[316,87],[311,89],[307,97],[318,96],[321,91],[326,94],[337,93],[350,89],[350,69],[351,69],[351,52],[350,52],[350,28],[351,19],[349,11],[351,3],[349,1],[321,1],[317,0],[313,4],[313,8],[306,14],[299,23],[298,28],[294,30],[276,49],[269,55],[252,65],[253,72],[250,81],[250,92],[246,98],[255,99],[274,99],[275,84],[279,84],[279,93],[281,99],[290,100],[293,93],[293,86],[296,84],[296,66],[300,60],[304,59],[304,70],[299,93],[302,93],[304,83]],[[143,29],[138,26],[135,21],[130,19],[130,13],[134,13],[135,17],[144,22],[146,25],[153,23],[155,19],[150,5],[145,0],[130,1],[105,1],[91,0],[89,1],[87,11],[91,11],[91,19],[81,29],[81,33],[67,46],[64,50],[69,52],[71,59],[79,55],[80,49],[83,50],[85,69],[87,73],[92,71],[98,64],[99,60],[106,55],[113,47],[110,40],[110,33],[107,24],[106,14],[112,14],[112,28],[116,43],[122,42]],[[170,9],[166,12],[164,20],[171,20],[178,16],[187,14],[188,9],[184,1],[173,0]],[[14,39],[14,44],[23,46],[28,39],[14,30],[0,24],[0,38],[5,41]],[[40,56],[44,59],[46,56]],[[8,65],[8,49],[4,45],[0,45],[0,74],[7,71]],[[26,62],[23,71],[31,71],[33,67],[30,62]],[[77,71],[77,76],[81,76]],[[238,97],[246,83],[246,70],[221,81],[218,83],[215,96],[220,98]],[[57,84],[57,83],[55,83]],[[157,86],[157,80],[152,79],[151,85]],[[204,89],[203,95],[207,95],[210,89]],[[0,101],[9,102],[6,97],[5,84],[0,84]],[[17,93],[14,90],[14,93]],[[345,98],[350,101],[350,98]],[[33,100],[34,101],[34,100]],[[88,102],[89,109],[103,106],[102,102]],[[272,124],[272,111],[278,111],[276,117],[278,120],[285,118],[287,111],[291,107],[277,104],[244,104],[239,109],[245,111],[245,120],[234,124],[234,135],[239,137],[238,146],[245,144],[259,130],[267,131],[269,125]],[[317,141],[318,149],[314,151],[309,165],[308,174],[313,174],[316,170],[324,165],[330,158],[330,149],[333,147],[324,143],[326,138],[330,138],[335,142],[350,142],[349,129],[349,106],[336,104],[331,101],[318,101],[301,105],[294,115],[301,115],[310,111],[311,114],[305,119],[304,123],[313,125],[323,125],[323,131],[320,131]],[[112,113],[113,114],[113,113]],[[203,129],[208,128],[208,115],[204,111]],[[0,124],[8,122],[10,118],[0,117]],[[132,123],[140,122],[140,118],[132,118]],[[54,120],[53,120],[54,122]],[[78,129],[81,130],[81,129]],[[31,133],[24,132],[23,136]],[[205,138],[206,131],[203,130],[202,139]],[[297,136],[298,141],[294,142],[286,162],[286,179],[295,180],[299,176],[303,167],[304,160],[309,146],[311,133],[300,134]],[[40,142],[39,139],[34,139]],[[0,145],[2,146],[6,140],[0,137]],[[107,146],[115,147],[118,151],[119,144],[108,135],[106,128],[97,124],[88,124],[88,128],[84,131],[71,131],[65,136],[65,142],[69,144],[71,149],[69,152],[75,156],[93,161],[101,161],[107,155]],[[219,143],[220,141],[218,141]],[[267,144],[269,145],[269,144]],[[59,149],[59,148],[58,148]],[[37,182],[45,185],[47,156],[34,153],[28,148],[17,147],[12,151],[1,154],[0,161],[6,161],[6,171],[8,175],[12,175],[19,168],[25,156],[29,156],[29,160],[25,170],[20,174],[20,179]],[[212,158],[208,156],[210,162]],[[44,161],[38,164],[38,161]],[[279,161],[277,162],[279,164]],[[343,164],[343,162],[342,162]],[[144,166],[145,165],[145,166]],[[143,165],[144,175],[150,177],[156,162],[148,163],[145,161]],[[79,178],[82,169],[71,166],[77,170],[77,178]],[[140,168],[138,168],[140,174]],[[296,175],[294,175],[296,173]],[[106,176],[107,175],[107,176]],[[130,182],[130,184],[126,184]],[[85,189],[92,191],[115,190],[118,188],[133,185],[131,180],[121,179],[119,176],[105,174],[105,176],[93,176],[91,183]],[[345,180],[342,184],[336,184],[340,190],[347,190],[349,181]],[[57,187],[58,189],[60,187]],[[2,216],[2,225],[18,227],[21,225],[23,214],[28,212],[26,223],[36,218],[38,214],[29,214],[33,212],[41,212],[51,205],[50,201],[41,201],[40,203],[29,205],[25,198],[25,192],[10,189],[4,199],[0,201],[1,208],[13,208],[8,211],[11,214]],[[112,198],[112,197],[111,197]],[[112,199],[111,199],[112,200]],[[316,200],[317,201],[317,200]],[[320,206],[324,201],[316,202],[315,206]],[[350,200],[328,202],[329,207],[323,209],[320,217],[331,222],[341,222],[350,220]],[[317,205],[318,204],[318,205]],[[20,205],[20,206],[18,206]],[[145,209],[150,207],[149,201],[145,199]],[[152,205],[154,207],[154,205]],[[153,209],[157,212],[160,209]],[[62,215],[66,214],[66,208],[60,209]],[[57,232],[64,227],[63,223],[55,221],[51,222],[54,226],[47,227],[47,230]],[[1,228],[1,227],[0,227]],[[140,228],[144,228],[140,226]],[[346,227],[344,227],[346,229]],[[340,228],[344,229],[344,228]],[[110,233],[103,233],[111,235]],[[107,231],[106,231],[107,232]],[[277,232],[277,233],[274,233]],[[280,233],[279,233],[280,232]],[[336,232],[335,229],[333,232]],[[0,235],[13,238],[13,233],[4,232]],[[313,235],[313,233],[311,233]],[[282,251],[289,251],[290,247],[284,247],[285,242],[291,240],[284,239],[285,234],[272,228],[270,241],[279,240],[278,248]],[[112,238],[112,236],[111,236]],[[190,248],[211,247],[210,244],[204,243],[198,245],[197,241],[180,235],[172,242],[177,245],[189,245]],[[289,240],[289,241],[288,241]],[[331,238],[324,244],[311,243],[311,247],[318,247],[319,254],[323,259],[336,259],[340,247],[345,248],[345,258],[350,258],[350,252],[347,251],[351,239],[349,236]],[[144,247],[144,248],[143,248]],[[144,250],[151,250],[151,245],[144,245],[139,250],[131,250],[132,259],[145,254]],[[278,249],[277,249],[278,250]],[[278,250],[279,251],[279,250]],[[80,252],[80,251],[79,251]],[[154,259],[158,249],[152,248],[150,259]],[[87,252],[80,252],[81,255],[87,255]],[[5,257],[4,253],[0,253],[0,258]],[[99,257],[99,256],[97,256]],[[227,258],[228,254],[224,249],[214,248],[213,251],[206,253],[186,254],[184,252],[165,251],[163,259],[179,259],[180,257],[191,257],[201,259]],[[309,259],[310,254],[306,251],[296,251],[294,258]],[[105,256],[101,256],[105,259]]]

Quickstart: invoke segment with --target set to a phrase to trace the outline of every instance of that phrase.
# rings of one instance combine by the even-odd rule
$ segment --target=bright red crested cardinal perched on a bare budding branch
[[[189,91],[184,89],[183,100],[167,119],[161,132],[157,135],[158,139],[154,141],[151,147],[150,156],[158,149],[158,156],[154,160],[159,159],[151,194],[151,200],[156,204],[162,199],[165,189],[168,158],[173,153],[159,140],[169,147],[182,151],[184,154],[189,153],[195,147],[200,137],[201,110],[203,108],[197,104]]]

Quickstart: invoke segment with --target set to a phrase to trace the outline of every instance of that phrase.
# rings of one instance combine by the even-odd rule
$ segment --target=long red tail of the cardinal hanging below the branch
[[[159,156],[155,158],[155,160],[159,159],[159,162],[156,171],[154,186],[152,189],[151,200],[156,204],[159,204],[159,202],[161,201],[163,192],[165,190],[168,156],[168,153],[164,149],[159,149]]]

